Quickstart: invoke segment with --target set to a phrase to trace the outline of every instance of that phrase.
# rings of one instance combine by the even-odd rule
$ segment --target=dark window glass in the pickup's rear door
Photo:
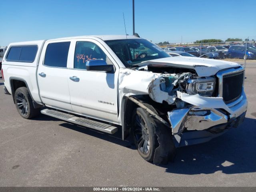
[[[46,48],[44,65],[50,67],[67,67],[70,42],[50,43]]]

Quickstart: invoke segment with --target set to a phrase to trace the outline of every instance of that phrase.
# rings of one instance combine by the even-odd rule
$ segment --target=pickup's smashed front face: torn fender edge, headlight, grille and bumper
[[[229,81],[233,80],[234,83],[237,81],[237,85],[228,87],[231,83],[224,84],[228,82],[224,78],[230,78]],[[243,122],[247,110],[243,78],[242,67],[207,77],[198,77],[191,72],[162,74],[150,82],[148,93],[152,100],[160,103],[166,101],[173,106],[167,112],[168,120],[178,146],[184,146],[208,141]],[[224,97],[221,95],[223,92],[226,92]],[[201,135],[197,137],[193,133],[194,137],[185,138],[184,135],[191,131],[197,131]]]

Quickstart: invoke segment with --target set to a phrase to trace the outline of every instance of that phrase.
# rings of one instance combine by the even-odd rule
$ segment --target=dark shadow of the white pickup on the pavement
[[[60,126],[69,128],[108,142],[136,150],[131,136],[123,141],[121,129],[113,135],[83,128],[70,123]],[[256,172],[256,119],[245,118],[242,126],[232,128],[210,142],[177,148],[174,162],[156,165],[165,172],[177,174],[225,174]]]

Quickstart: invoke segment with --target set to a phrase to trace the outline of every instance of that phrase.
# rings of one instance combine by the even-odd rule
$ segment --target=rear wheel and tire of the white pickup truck
[[[40,108],[34,108],[33,100],[26,87],[20,87],[15,91],[14,100],[20,116],[25,119],[38,116]]]

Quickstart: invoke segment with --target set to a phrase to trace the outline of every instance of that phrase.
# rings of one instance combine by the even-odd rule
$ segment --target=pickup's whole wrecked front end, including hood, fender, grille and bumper
[[[167,162],[174,158],[176,147],[207,142],[243,122],[247,110],[243,84],[244,68],[232,62],[179,57],[122,68],[123,138],[132,129],[129,114],[137,106],[143,108],[156,125],[154,163]]]

